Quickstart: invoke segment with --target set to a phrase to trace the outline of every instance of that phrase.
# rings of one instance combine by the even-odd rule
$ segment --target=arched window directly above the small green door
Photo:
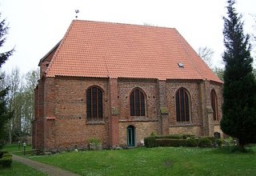
[[[130,94],[130,116],[145,116],[145,97],[142,90],[135,89]]]

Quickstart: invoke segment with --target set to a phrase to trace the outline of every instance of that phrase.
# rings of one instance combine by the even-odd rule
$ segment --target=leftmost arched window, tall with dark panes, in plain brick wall
[[[86,91],[86,117],[87,119],[102,119],[102,90],[97,86],[91,86]]]

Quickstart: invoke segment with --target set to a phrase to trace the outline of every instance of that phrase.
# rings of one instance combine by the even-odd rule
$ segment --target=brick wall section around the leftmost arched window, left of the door
[[[109,146],[108,80],[90,78],[47,78],[46,148],[65,149],[74,146],[85,148],[90,138],[98,138]],[[103,121],[87,122],[86,90],[98,86],[103,91]],[[48,111],[48,110],[47,110]]]

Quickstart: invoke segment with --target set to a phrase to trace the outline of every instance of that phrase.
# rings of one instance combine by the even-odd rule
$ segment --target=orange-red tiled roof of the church
[[[57,75],[222,82],[176,29],[79,20],[46,70],[46,77]]]

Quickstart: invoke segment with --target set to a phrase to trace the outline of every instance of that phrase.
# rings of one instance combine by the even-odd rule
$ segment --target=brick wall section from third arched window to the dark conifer
[[[191,108],[191,121],[190,122],[177,122],[175,116],[175,93],[180,88],[184,87],[190,94],[190,108]],[[214,89],[218,96],[218,114],[222,114],[222,86],[209,81],[171,81],[166,82],[166,104],[170,111],[170,134],[193,131],[197,135],[211,135],[214,132],[213,124],[209,121],[207,114],[207,107],[210,106],[210,90]],[[219,122],[214,122],[218,125]],[[192,127],[193,126],[193,127]],[[195,127],[197,126],[197,127]],[[177,130],[175,130],[177,129]],[[183,130],[181,130],[183,129]],[[196,130],[194,130],[196,129]],[[183,133],[182,132],[182,133]]]

